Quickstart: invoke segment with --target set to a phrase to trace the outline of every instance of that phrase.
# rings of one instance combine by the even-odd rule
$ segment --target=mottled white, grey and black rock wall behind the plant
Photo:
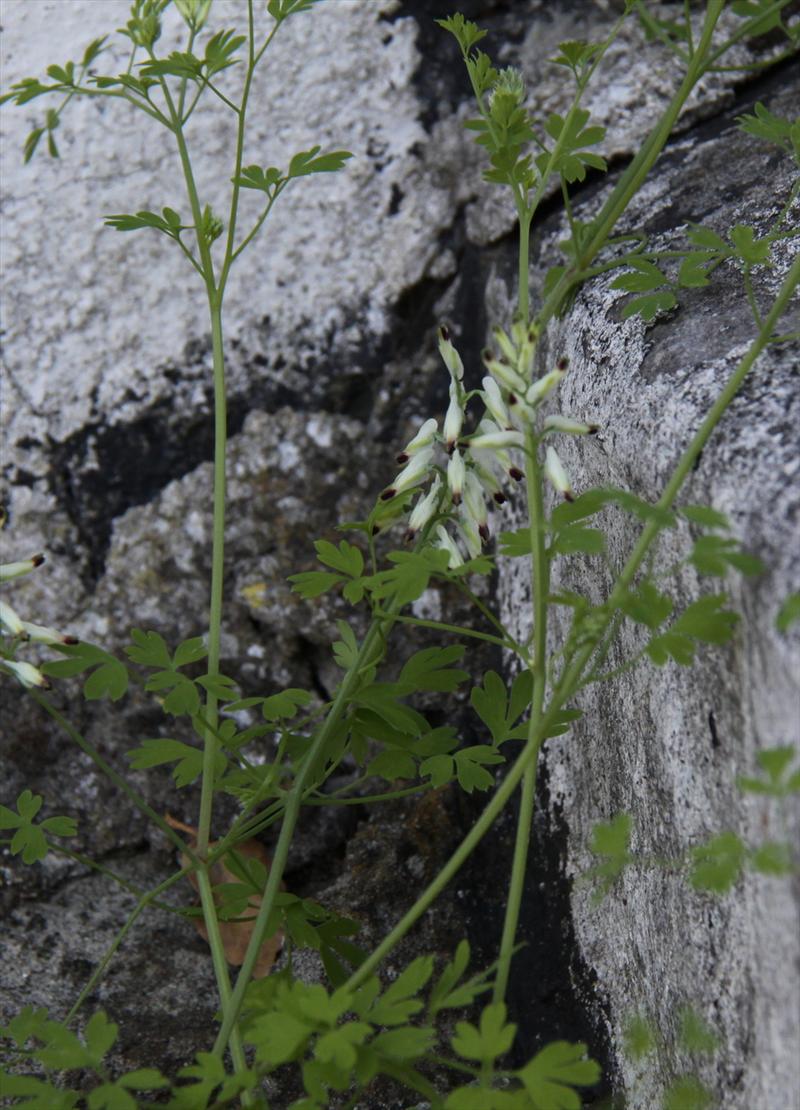
[[[214,7],[230,23],[244,14],[240,0]],[[589,0],[469,0],[460,8],[489,28],[487,48],[502,63],[521,65],[541,111],[565,107],[560,77],[546,64],[557,43],[597,37],[615,14],[614,4]],[[284,164],[317,142],[356,157],[343,173],[287,190],[264,240],[234,271],[226,301],[232,441],[223,668],[247,693],[286,683],[322,695],[331,689],[328,644],[345,610],[300,602],[285,577],[311,567],[314,538],[364,513],[393,473],[396,446],[422,418],[444,411],[436,324],[450,323],[477,384],[487,326],[509,314],[513,220],[499,191],[482,183],[479,152],[460,128],[472,114],[466,78],[433,23],[449,11],[439,0],[321,4],[313,19],[282,28],[253,92],[245,162]],[[7,0],[4,87],[80,57],[91,38],[125,19],[120,0]],[[179,27],[172,12],[165,46]],[[758,49],[776,48],[768,40]],[[742,48],[736,60],[746,58]],[[615,172],[666,104],[676,68],[657,44],[642,47],[635,27],[608,67],[587,107],[609,129],[604,153]],[[774,210],[789,167],[732,131],[732,119],[755,99],[771,105],[777,98],[788,108],[797,79],[783,69],[752,89],[743,81],[715,75],[692,99],[631,225],[652,233],[686,220],[758,225]],[[112,649],[131,625],[174,642],[205,622],[212,397],[204,301],[170,244],[154,233],[117,233],[101,219],[164,204],[185,209],[170,179],[174,152],[124,105],[87,101],[70,105],[57,133],[62,160],[38,155],[23,167],[17,151],[39,121],[39,103],[0,114],[10,511],[2,548],[4,558],[48,553],[45,567],[14,588],[14,604]],[[201,192],[217,208],[230,134],[225,108],[212,103],[192,135]],[[581,203],[590,208],[605,188],[590,182]],[[549,255],[556,199],[546,216],[541,251]],[[602,425],[597,443],[567,460],[578,485],[612,481],[657,495],[750,333],[736,281],[719,276],[647,331],[620,323],[617,294],[598,281],[553,329],[551,350],[573,363],[565,411]],[[655,1104],[680,1067],[670,1030],[683,1000],[725,1035],[717,1070],[705,1078],[726,1107],[767,1108],[776,1093],[798,1089],[788,1048],[798,1033],[798,900],[788,884],[749,880],[711,902],[658,871],[628,880],[599,911],[588,909],[579,886],[570,890],[591,824],[618,809],[635,813],[637,847],[662,854],[720,824],[760,829],[766,819],[760,804],[741,803],[732,780],[751,768],[755,750],[790,741],[791,725],[797,731],[797,634],[781,639],[772,628],[778,601],[798,581],[796,364],[788,347],[762,360],[692,477],[690,500],[728,512],[770,567],[764,578],[732,585],[747,617],[742,635],[690,674],[647,669],[590,692],[591,726],[547,747],[548,789],[523,922],[531,944],[515,977],[520,1052],[540,1038],[588,1038],[617,1088],[641,1107]],[[625,521],[614,529],[616,556],[631,533]],[[580,574],[601,588],[590,564]],[[687,598],[697,585],[689,576],[680,583]],[[512,567],[498,592],[509,612],[524,612]],[[457,616],[457,602],[443,592],[425,601],[429,612]],[[498,660],[487,655],[483,665]],[[480,666],[478,658],[476,674]],[[161,725],[136,697],[121,714],[75,706],[68,692],[57,700],[121,769],[124,751]],[[24,787],[43,794],[53,811],[78,818],[79,850],[136,886],[170,872],[169,846],[36,707],[11,692],[0,712],[3,803]],[[464,727],[474,729],[474,718]],[[156,809],[193,818],[192,791],[176,797],[166,773],[133,778]],[[446,858],[474,807],[445,795],[363,819],[323,813],[297,844],[290,882],[358,917],[368,942]],[[498,860],[507,859],[512,839],[504,819],[397,966],[417,950],[446,951],[465,930],[490,958],[505,874]],[[26,1002],[64,1012],[133,899],[63,858],[30,869],[4,854],[2,876],[12,952],[2,975],[3,1016]],[[133,1031],[120,1046],[120,1063],[174,1069],[207,1047],[214,1007],[204,946],[173,916],[145,916],[92,1003],[128,1017]],[[668,1040],[645,1076],[619,1050],[621,1023],[640,1006]]]

